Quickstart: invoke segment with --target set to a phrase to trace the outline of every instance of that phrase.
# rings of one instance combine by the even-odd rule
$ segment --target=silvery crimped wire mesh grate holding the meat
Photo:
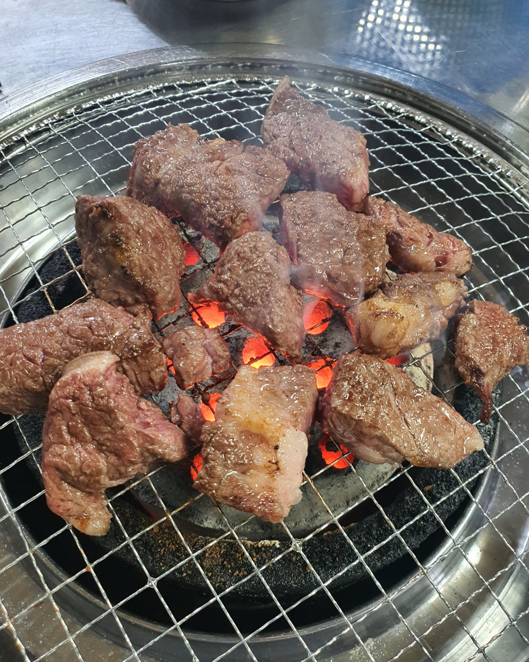
[[[36,292],[46,297],[49,310],[56,310],[54,286],[66,277],[75,277],[81,295],[87,293],[79,264],[73,257],[73,205],[77,195],[111,195],[122,193],[128,177],[132,148],[138,138],[154,133],[166,126],[187,122],[207,138],[220,136],[236,138],[250,144],[260,144],[260,125],[269,97],[276,81],[255,79],[218,79],[195,81],[179,85],[166,85],[146,89],[117,99],[101,100],[81,110],[72,110],[66,117],[45,122],[38,130],[22,136],[11,144],[0,148],[0,308],[5,319],[9,316],[18,321],[21,305],[34,296],[24,289],[30,279],[36,283]],[[361,92],[343,89],[323,89],[306,86],[309,97],[328,107],[335,119],[352,123],[360,128],[367,138],[371,160],[371,193],[382,193],[395,203],[416,213],[422,220],[430,222],[439,230],[452,232],[473,248],[474,267],[466,281],[469,291],[476,297],[485,298],[505,305],[508,310],[528,322],[526,305],[529,301],[529,191],[526,182],[516,173],[508,171],[504,164],[483,153],[479,146],[442,126],[431,118],[418,116],[410,109],[393,102],[373,98]],[[183,238],[195,250],[197,259],[187,267],[182,279],[183,307],[177,314],[167,316],[156,326],[158,334],[164,334],[174,326],[181,326],[193,314],[201,321],[201,311],[192,308],[187,294],[194,291],[213,273],[218,252],[215,246],[201,238],[184,224],[180,224]],[[64,275],[47,280],[42,277],[42,264],[56,250],[62,250],[68,269]],[[191,249],[190,249],[191,250]],[[240,331],[240,326],[226,322],[221,327],[226,339]],[[324,336],[321,336],[322,338]],[[305,357],[323,360],[320,367],[332,365],[334,357],[326,354],[319,342],[320,336],[307,336],[304,346]],[[280,354],[273,354],[275,361],[285,363]],[[450,342],[440,341],[432,347],[434,355],[452,355]],[[422,364],[416,362],[422,369]],[[194,387],[193,395],[218,390],[229,381],[229,375],[213,379]],[[453,399],[460,380],[453,379],[448,385],[425,373],[436,395]],[[209,540],[203,547],[193,547],[178,526],[179,512],[189,502],[169,508],[156,484],[156,471],[141,477],[117,490],[110,498],[110,508],[119,526],[122,540],[119,547],[126,548],[144,573],[142,587],[134,589],[123,600],[112,600],[100,579],[101,567],[115,549],[97,559],[87,555],[79,540],[79,534],[70,526],[56,527],[47,535],[36,540],[21,524],[24,508],[42,501],[42,489],[36,489],[22,500],[12,494],[2,493],[3,514],[0,526],[11,526],[11,544],[5,549],[0,564],[0,609],[2,628],[9,630],[24,649],[25,659],[92,661],[107,659],[108,642],[116,645],[113,657],[108,659],[146,661],[166,659],[171,641],[175,637],[183,642],[178,659],[222,660],[222,659],[268,659],[262,653],[260,637],[270,632],[274,624],[281,623],[289,639],[288,657],[277,659],[299,659],[320,661],[339,653],[344,647],[354,649],[358,660],[394,659],[441,659],[446,641],[459,638],[457,657],[470,662],[476,659],[505,659],[497,657],[495,644],[510,641],[514,647],[529,646],[529,605],[523,600],[508,598],[506,585],[516,578],[520,585],[528,583],[526,567],[526,531],[529,511],[524,483],[520,475],[526,473],[529,459],[526,449],[526,420],[528,412],[529,379],[526,369],[516,369],[505,380],[503,397],[497,402],[495,412],[500,421],[501,443],[497,453],[486,453],[487,461],[475,475],[489,479],[494,485],[493,494],[476,493],[472,480],[456,478],[454,491],[463,491],[471,503],[475,523],[471,530],[450,527],[440,516],[440,502],[430,502],[425,489],[414,481],[413,474],[403,469],[387,478],[381,487],[391,485],[397,477],[404,476],[409,485],[424,502],[424,508],[415,520],[425,514],[433,514],[438,527],[444,532],[446,543],[440,553],[421,559],[407,542],[406,530],[410,526],[395,526],[387,516],[386,508],[351,465],[351,473],[363,483],[365,495],[359,502],[374,504],[389,525],[387,538],[395,538],[405,549],[412,562],[413,571],[404,583],[394,587],[383,585],[371,567],[371,559],[383,543],[362,551],[356,548],[344,527],[343,518],[352,510],[330,508],[318,491],[318,477],[330,471],[324,467],[316,473],[305,473],[305,490],[311,491],[320,500],[328,514],[326,524],[304,537],[297,537],[288,522],[281,525],[281,537],[287,544],[281,547],[267,546],[265,561],[254,555],[244,540],[244,522],[234,525],[218,508],[218,518],[224,533]],[[167,408],[164,395],[155,397]],[[477,422],[477,421],[472,421]],[[26,449],[16,457],[0,454],[0,477],[3,484],[20,463],[33,463],[38,469],[38,448],[26,440],[24,426],[17,418],[4,417],[2,434],[15,430],[26,443]],[[486,451],[485,451],[486,452]],[[342,459],[342,456],[337,457]],[[147,484],[156,496],[162,516],[153,521],[146,530],[156,530],[165,521],[174,530],[175,536],[187,551],[187,555],[173,567],[160,575],[153,575],[138,553],[138,539],[146,530],[130,534],[126,522],[120,519],[119,500],[134,491],[138,485]],[[197,495],[191,500],[207,498]],[[356,502],[354,506],[358,506]],[[477,515],[476,515],[477,513]],[[248,518],[245,518],[245,522]],[[474,522],[474,520],[473,520]],[[378,597],[357,610],[347,613],[333,591],[338,577],[320,577],[307,553],[307,543],[318,536],[328,524],[332,524],[352,547],[355,561],[360,565],[378,589]],[[483,538],[485,536],[486,538]],[[53,573],[43,561],[54,544],[61,544],[64,536],[73,540],[79,555],[77,572],[65,575]],[[387,538],[384,542],[387,541]],[[205,555],[215,550],[222,540],[230,540],[238,546],[248,571],[226,589],[214,585],[209,578]],[[489,550],[481,548],[482,540],[491,545]],[[478,544],[479,541],[479,544]],[[275,553],[274,549],[277,549]],[[492,550],[492,551],[491,551]],[[483,554],[493,553],[499,565],[487,565]],[[307,572],[313,575],[316,587],[303,594],[292,604],[285,606],[277,598],[267,581],[267,571],[289,554],[296,553],[303,559]],[[166,596],[160,590],[164,576],[186,564],[199,573],[207,587],[207,598],[201,606],[185,616],[175,617]],[[20,579],[23,568],[32,578],[31,585]],[[344,570],[345,572],[345,570]],[[86,611],[81,618],[74,616],[68,603],[67,589],[75,585],[81,576],[91,579],[93,593],[99,596],[97,610]],[[454,577],[464,586],[456,589],[449,581]],[[461,579],[463,578],[463,579]],[[264,624],[243,631],[230,613],[230,593],[240,584],[257,581],[275,605],[275,616]],[[414,594],[418,585],[425,594]],[[26,590],[27,589],[27,590]],[[166,611],[168,625],[152,624],[151,628],[138,629],[125,614],[134,598],[143,599],[146,594],[154,596]],[[332,610],[334,630],[322,630],[317,638],[310,628],[300,628],[295,623],[295,610],[311,600],[315,594],[326,596]],[[403,606],[401,596],[414,595],[420,617],[413,605]],[[86,596],[85,596],[86,597]],[[86,598],[89,601],[89,598]],[[522,606],[520,606],[520,604]],[[215,645],[204,648],[204,641],[189,630],[189,622],[197,610],[207,610],[215,605],[222,612],[226,636],[215,641]],[[490,618],[483,622],[481,616],[489,609]],[[44,636],[32,628],[35,614],[50,624]],[[479,615],[479,618],[478,618]],[[385,626],[393,636],[384,651],[373,647],[373,623],[377,618],[385,619]],[[42,622],[42,621],[41,621]],[[131,625],[132,622],[132,625]],[[314,615],[314,624],[318,622]],[[317,634],[320,626],[312,630]],[[448,633],[448,634],[447,634]],[[198,643],[197,643],[198,642]],[[443,643],[439,643],[443,642]],[[505,645],[505,643],[504,643]],[[165,651],[165,652],[164,652]],[[31,657],[30,657],[31,656]],[[167,658],[169,659],[169,657]],[[521,658],[520,658],[521,659]]]

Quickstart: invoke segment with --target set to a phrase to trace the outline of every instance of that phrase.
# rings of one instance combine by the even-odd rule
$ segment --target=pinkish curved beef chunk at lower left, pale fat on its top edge
[[[184,433],[134,393],[109,352],[65,367],[50,393],[42,431],[42,480],[48,507],[89,536],[110,526],[105,489],[187,455]]]

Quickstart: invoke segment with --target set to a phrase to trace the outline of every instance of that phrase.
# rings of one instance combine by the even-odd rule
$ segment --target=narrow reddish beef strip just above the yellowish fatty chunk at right
[[[438,232],[393,203],[369,196],[363,213],[383,221],[391,260],[403,271],[442,271],[461,276],[472,266],[472,252],[465,242]]]

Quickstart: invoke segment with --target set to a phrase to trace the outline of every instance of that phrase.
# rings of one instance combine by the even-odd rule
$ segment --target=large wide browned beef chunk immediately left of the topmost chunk
[[[238,140],[204,140],[187,124],[169,124],[136,144],[126,195],[179,214],[223,250],[261,228],[288,176],[285,164],[267,150],[244,149]]]

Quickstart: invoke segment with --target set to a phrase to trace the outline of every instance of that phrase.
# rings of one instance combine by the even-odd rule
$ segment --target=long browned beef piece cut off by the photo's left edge
[[[40,320],[0,329],[0,411],[45,411],[48,395],[72,359],[108,350],[118,369],[142,395],[162,391],[167,365],[150,331],[148,308],[128,312],[101,299],[77,303]]]

